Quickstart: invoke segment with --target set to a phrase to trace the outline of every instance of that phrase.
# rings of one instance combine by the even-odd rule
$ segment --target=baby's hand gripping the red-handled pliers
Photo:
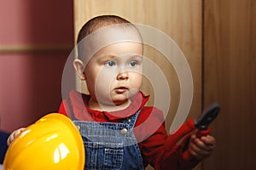
[[[197,138],[195,134],[192,134],[189,141],[189,152],[196,160],[200,161],[212,154],[215,145],[216,140],[211,135]]]

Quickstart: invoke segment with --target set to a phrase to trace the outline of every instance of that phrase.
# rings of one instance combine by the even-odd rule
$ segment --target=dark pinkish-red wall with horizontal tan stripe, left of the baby
[[[0,2],[2,130],[58,110],[62,69],[72,48],[72,0]]]

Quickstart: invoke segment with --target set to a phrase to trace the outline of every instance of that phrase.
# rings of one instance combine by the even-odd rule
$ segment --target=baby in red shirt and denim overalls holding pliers
[[[59,112],[73,119],[84,140],[85,169],[192,169],[211,155],[215,139],[192,134],[168,146],[162,111],[145,106],[143,42],[137,28],[114,15],[89,20],[79,31],[73,65],[90,95],[71,91]],[[20,133],[20,132],[18,132]],[[9,143],[17,135],[9,137]],[[189,144],[188,144],[189,143]],[[189,150],[193,159],[184,160]]]

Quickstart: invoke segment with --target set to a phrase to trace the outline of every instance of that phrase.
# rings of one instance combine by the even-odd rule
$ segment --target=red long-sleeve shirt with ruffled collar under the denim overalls
[[[139,93],[131,99],[131,105],[125,110],[94,111],[87,105],[89,95],[71,91],[69,98],[61,102],[59,112],[80,121],[120,122],[142,108],[133,131],[143,156],[144,167],[149,163],[154,169],[192,169],[198,161],[183,160],[183,150],[186,149],[185,140],[181,144],[168,145],[172,136],[166,133],[162,111],[155,107],[145,106],[148,98],[149,96]]]

